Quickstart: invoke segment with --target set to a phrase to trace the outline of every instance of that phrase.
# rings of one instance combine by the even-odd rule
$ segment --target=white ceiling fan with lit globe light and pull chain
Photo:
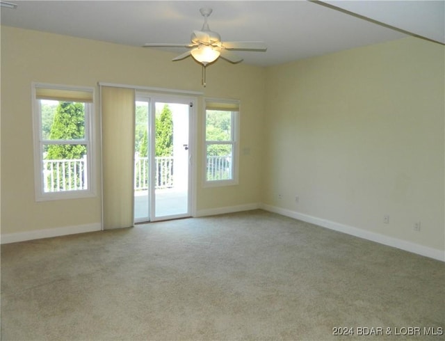
[[[219,57],[230,63],[240,63],[243,58],[239,58],[232,50],[239,51],[266,51],[264,42],[222,42],[221,36],[210,30],[207,18],[212,13],[211,8],[201,8],[200,13],[204,17],[204,24],[201,31],[193,31],[191,42],[188,44],[145,44],[143,47],[186,47],[189,51],[179,54],[173,61],[192,56],[195,61],[202,64],[202,85],[205,86],[205,68]]]

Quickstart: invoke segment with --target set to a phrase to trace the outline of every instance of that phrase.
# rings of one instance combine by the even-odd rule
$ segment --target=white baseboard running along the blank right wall
[[[367,239],[370,241],[375,241],[376,243],[379,244],[392,246],[394,248],[400,248],[401,250],[404,251],[416,253],[418,255],[423,255],[426,257],[433,258],[435,260],[441,260],[442,262],[445,262],[444,251],[440,251],[435,248],[429,248],[428,246],[415,244],[412,243],[411,241],[405,241],[394,237],[380,235],[379,233],[362,230],[360,228],[353,228],[352,226],[343,225],[341,223],[335,223],[334,221],[328,221],[326,219],[317,218],[315,216],[309,216],[307,214],[298,213],[295,211],[291,211],[289,209],[283,209],[272,205],[261,204],[259,205],[259,208],[269,212],[282,214],[283,216],[289,216],[290,218],[298,219],[300,221],[305,221],[307,223],[313,223],[323,228],[329,228],[330,230],[343,232],[348,235],[353,235],[355,237]]]

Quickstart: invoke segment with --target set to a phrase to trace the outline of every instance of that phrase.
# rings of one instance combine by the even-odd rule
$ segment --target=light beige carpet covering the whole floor
[[[444,283],[443,262],[261,210],[149,223],[3,245],[1,340],[423,335],[445,327]]]

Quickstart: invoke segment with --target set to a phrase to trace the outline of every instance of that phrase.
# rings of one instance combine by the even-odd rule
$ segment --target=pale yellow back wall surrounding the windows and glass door
[[[1,27],[1,233],[28,232],[101,222],[100,187],[95,198],[35,202],[31,82],[96,87],[96,129],[99,132],[97,82],[174,88],[204,92],[205,96],[241,100],[240,184],[203,189],[202,99],[197,113],[197,209],[258,203],[261,117],[264,113],[263,68],[219,61],[207,70],[191,58],[173,63],[175,54],[141,47],[70,38]],[[97,164],[99,163],[99,138]],[[100,184],[100,173],[95,174]]]

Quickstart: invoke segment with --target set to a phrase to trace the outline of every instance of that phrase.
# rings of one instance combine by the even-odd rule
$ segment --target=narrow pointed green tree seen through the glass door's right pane
[[[156,113],[156,157],[170,157],[173,154],[173,116],[168,104],[161,113]]]

